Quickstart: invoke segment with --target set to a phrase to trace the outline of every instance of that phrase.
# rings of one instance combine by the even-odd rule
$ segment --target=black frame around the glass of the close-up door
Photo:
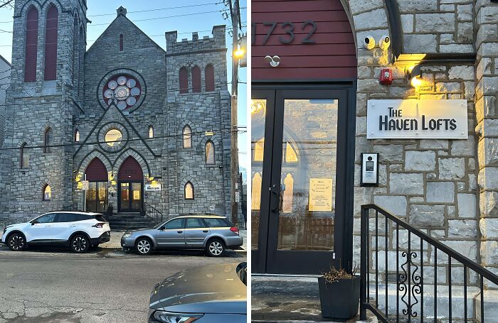
[[[343,153],[341,166],[344,172],[337,173],[336,183],[342,182],[342,187],[336,187],[336,201],[342,200],[342,210],[337,212],[334,220],[334,259],[324,258],[324,251],[277,251],[278,212],[272,211],[275,197],[280,194],[280,172],[282,162],[283,109],[275,111],[276,104],[283,104],[285,98],[313,98],[327,91],[339,98],[339,120],[345,124],[338,125],[338,137],[344,136],[340,151]],[[351,270],[353,267],[353,203],[354,203],[354,145],[356,124],[356,80],[330,82],[253,82],[253,99],[267,100],[267,116],[265,119],[265,144],[263,159],[263,177],[260,201],[260,239],[258,250],[252,251],[253,272],[255,273],[310,273],[309,263],[328,263],[336,267]],[[280,93],[280,94],[277,94]],[[284,93],[286,95],[284,95]],[[314,95],[313,95],[314,94]],[[344,104],[341,103],[344,102]],[[278,122],[280,121],[280,122]],[[339,133],[340,132],[340,133]],[[280,137],[275,138],[275,136]],[[277,143],[277,144],[273,144]],[[278,144],[280,143],[280,144]],[[339,160],[338,160],[339,169]],[[266,170],[266,173],[265,173]],[[268,175],[270,173],[270,175]],[[271,187],[275,186],[276,190]],[[272,195],[274,198],[272,198]],[[276,214],[276,215],[275,215]],[[272,234],[271,234],[272,233]],[[264,236],[262,236],[262,234]],[[280,257],[278,254],[280,253]],[[332,252],[329,252],[332,253]],[[288,265],[289,257],[298,256],[301,261]],[[330,255],[332,256],[332,255]],[[268,266],[267,259],[276,259],[277,265]],[[332,258],[332,257],[331,257]],[[285,261],[287,259],[287,261]],[[287,263],[287,264],[286,264]]]

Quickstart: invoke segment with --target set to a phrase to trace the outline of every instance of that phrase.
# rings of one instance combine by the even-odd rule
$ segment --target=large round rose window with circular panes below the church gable
[[[105,103],[110,105],[115,100],[120,110],[131,109],[141,94],[140,83],[130,75],[115,75],[107,81],[102,91]]]

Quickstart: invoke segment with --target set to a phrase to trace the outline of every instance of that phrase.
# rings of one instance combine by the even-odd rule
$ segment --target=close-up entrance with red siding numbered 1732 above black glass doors
[[[253,273],[349,268],[354,34],[340,0],[280,2],[252,9]]]

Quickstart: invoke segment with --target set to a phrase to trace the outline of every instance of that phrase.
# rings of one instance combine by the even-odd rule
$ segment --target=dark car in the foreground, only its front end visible
[[[184,270],[157,284],[150,295],[149,323],[247,322],[247,263]]]

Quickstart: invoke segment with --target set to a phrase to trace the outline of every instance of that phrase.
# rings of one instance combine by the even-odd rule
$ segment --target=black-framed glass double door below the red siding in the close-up
[[[323,273],[339,265],[347,102],[346,89],[253,89],[255,273]]]

